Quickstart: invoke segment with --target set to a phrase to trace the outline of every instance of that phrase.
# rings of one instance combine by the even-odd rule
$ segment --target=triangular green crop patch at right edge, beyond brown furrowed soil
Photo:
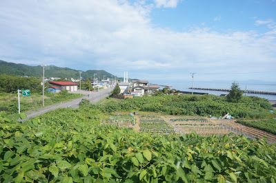
[[[248,127],[253,127],[255,129],[260,129],[268,133],[273,133],[276,135],[276,120],[237,120],[237,122]]]

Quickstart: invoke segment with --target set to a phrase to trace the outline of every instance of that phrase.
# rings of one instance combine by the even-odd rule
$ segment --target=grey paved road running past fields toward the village
[[[72,107],[72,108],[78,108],[79,107],[79,102],[81,102],[82,98],[86,98],[90,100],[90,103],[96,103],[97,101],[105,98],[106,96],[109,96],[109,92],[112,91],[111,89],[101,89],[99,92],[88,92],[88,91],[83,91],[81,90],[81,94],[84,94],[83,97],[81,98],[75,98],[70,101],[65,101],[60,104],[55,104],[55,105],[49,105],[47,107],[43,107],[34,111],[28,111],[25,114],[27,115],[27,118],[19,121],[24,121],[28,120],[29,118],[32,118],[34,116],[38,116],[40,114],[44,114],[48,111],[52,111],[58,108],[65,108],[65,107]],[[75,94],[79,94],[79,90],[77,92],[72,92]],[[90,94],[90,96],[88,96]]]

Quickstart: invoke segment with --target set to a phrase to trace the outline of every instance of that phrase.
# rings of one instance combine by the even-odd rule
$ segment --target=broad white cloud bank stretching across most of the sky
[[[173,2],[178,1],[159,1],[159,5]],[[0,59],[105,69],[118,76],[128,71],[133,78],[275,70],[274,34],[224,34],[210,28],[176,32],[153,27],[150,8],[111,0],[1,1]]]

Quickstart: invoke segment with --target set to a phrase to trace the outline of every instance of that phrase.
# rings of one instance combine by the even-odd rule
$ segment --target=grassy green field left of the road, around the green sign
[[[58,93],[44,95],[44,106],[54,105],[61,103],[66,100],[71,100],[73,98],[80,98],[83,95],[79,94],[68,94],[68,93]],[[42,94],[31,94],[30,96],[20,96],[20,111],[32,111],[42,107],[43,96]],[[0,94],[0,111],[7,111],[9,114],[18,112],[18,95],[12,93],[1,93]]]

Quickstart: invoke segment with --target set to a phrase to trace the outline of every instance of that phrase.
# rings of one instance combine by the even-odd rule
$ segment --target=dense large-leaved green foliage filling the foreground
[[[27,122],[0,116],[0,182],[276,181],[276,147],[264,140],[151,136],[98,126],[87,107]]]

